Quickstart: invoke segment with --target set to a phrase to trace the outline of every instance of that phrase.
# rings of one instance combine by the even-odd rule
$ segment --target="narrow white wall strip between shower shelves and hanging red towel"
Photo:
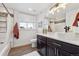
[[[13,31],[13,18],[10,15],[8,15],[8,17],[7,17],[7,34],[6,34],[8,42],[13,40],[12,31]]]

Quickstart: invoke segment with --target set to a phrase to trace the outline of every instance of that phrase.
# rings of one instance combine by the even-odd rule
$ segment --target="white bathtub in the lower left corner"
[[[10,43],[0,44],[0,56],[8,56],[10,51]]]

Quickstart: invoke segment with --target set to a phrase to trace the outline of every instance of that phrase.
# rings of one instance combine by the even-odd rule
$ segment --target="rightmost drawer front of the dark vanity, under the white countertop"
[[[74,55],[78,55],[79,54],[79,46],[70,44],[70,43],[66,43],[66,42],[59,42],[59,44],[61,45],[61,49],[72,53]]]

